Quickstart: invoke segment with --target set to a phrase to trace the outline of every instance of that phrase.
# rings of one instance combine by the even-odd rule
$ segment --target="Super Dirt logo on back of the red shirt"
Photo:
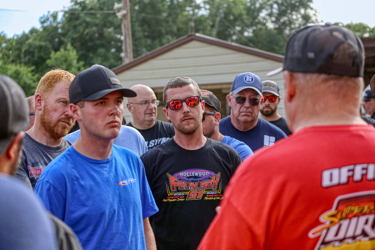
[[[375,249],[374,190],[339,196],[319,219],[324,224],[309,232],[320,236],[315,250]]]

